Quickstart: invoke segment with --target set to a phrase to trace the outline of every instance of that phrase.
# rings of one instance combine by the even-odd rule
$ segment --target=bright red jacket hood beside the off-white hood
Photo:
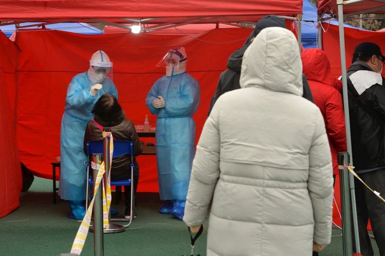
[[[336,87],[341,81],[337,80],[330,69],[328,57],[321,49],[311,48],[302,52],[303,73],[307,80]]]

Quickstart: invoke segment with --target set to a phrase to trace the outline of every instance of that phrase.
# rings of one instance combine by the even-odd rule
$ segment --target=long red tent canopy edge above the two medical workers
[[[170,18],[211,17],[207,22],[213,23],[221,17],[257,21],[266,14],[296,16],[299,13],[302,13],[302,0],[4,0],[0,5],[0,21],[97,18],[127,23],[124,18],[157,18],[152,22],[158,23],[171,22]]]

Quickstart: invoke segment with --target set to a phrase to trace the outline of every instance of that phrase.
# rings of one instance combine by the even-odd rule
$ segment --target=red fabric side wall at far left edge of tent
[[[14,130],[16,48],[0,33],[0,218],[19,206],[22,172]],[[10,104],[9,100],[12,100]]]

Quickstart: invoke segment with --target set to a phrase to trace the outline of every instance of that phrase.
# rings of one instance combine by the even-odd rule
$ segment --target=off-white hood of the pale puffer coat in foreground
[[[302,62],[290,30],[266,28],[255,37],[243,55],[240,86],[302,96]]]

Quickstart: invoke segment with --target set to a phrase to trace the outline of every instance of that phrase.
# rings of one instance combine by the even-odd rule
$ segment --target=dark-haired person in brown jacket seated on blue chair
[[[100,97],[98,102],[92,109],[94,119],[88,122],[86,131],[84,134],[84,151],[86,152],[86,146],[88,141],[102,141],[102,131],[104,127],[111,128],[112,136],[114,140],[131,141],[133,144],[133,191],[136,194],[139,181],[139,165],[135,156],[142,153],[143,147],[139,141],[137,131],[133,123],[126,119],[125,113],[118,103],[118,100],[112,94],[104,94]],[[111,181],[121,181],[131,179],[131,157],[130,155],[122,155],[114,157],[111,166]],[[124,186],[125,190],[125,204],[126,210],[124,212],[124,218],[130,218],[130,193],[129,186]],[[136,218],[136,213],[134,214]]]

